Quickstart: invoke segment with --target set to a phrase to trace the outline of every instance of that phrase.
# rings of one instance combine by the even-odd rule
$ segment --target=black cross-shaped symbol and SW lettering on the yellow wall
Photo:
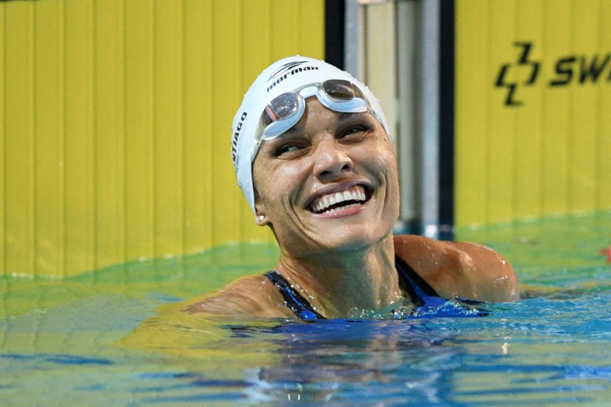
[[[540,61],[530,58],[530,51],[533,48],[532,42],[516,42],[515,46],[520,48],[518,60],[513,64],[502,64],[499,68],[495,87],[507,88],[507,96],[505,97],[505,106],[522,106],[524,102],[516,98],[519,86],[532,86],[538,79],[539,72],[542,70],[543,64]],[[602,72],[609,65],[609,73],[606,82],[611,82],[611,53],[604,56],[594,55],[587,57],[585,55],[568,55],[558,57],[554,64],[552,78],[547,82],[549,87],[567,86],[571,82],[583,85],[587,82],[595,84],[601,78]],[[518,70],[518,75],[521,80],[510,82],[507,79],[509,70]]]

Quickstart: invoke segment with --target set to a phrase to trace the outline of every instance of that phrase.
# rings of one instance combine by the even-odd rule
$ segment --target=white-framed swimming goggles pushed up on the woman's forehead
[[[329,109],[342,113],[359,113],[369,110],[369,103],[360,89],[350,81],[329,79],[321,83],[307,84],[293,92],[275,97],[265,106],[261,120],[263,131],[257,144],[272,140],[295,126],[305,111],[305,99],[316,96]]]

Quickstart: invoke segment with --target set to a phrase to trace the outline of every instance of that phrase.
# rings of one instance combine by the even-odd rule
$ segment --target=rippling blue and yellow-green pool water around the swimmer
[[[530,298],[487,317],[211,321],[172,304],[268,270],[273,246],[0,279],[0,404],[609,405],[611,212],[462,229]]]

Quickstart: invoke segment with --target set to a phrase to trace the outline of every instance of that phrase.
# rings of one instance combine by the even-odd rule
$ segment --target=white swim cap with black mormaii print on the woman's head
[[[379,100],[365,84],[323,60],[302,56],[280,59],[269,65],[252,83],[244,95],[242,105],[232,125],[232,158],[238,185],[242,189],[252,211],[255,211],[255,193],[252,182],[252,161],[257,155],[258,133],[263,131],[261,116],[269,103],[280,94],[309,84],[320,84],[329,79],[352,82],[362,92],[373,116],[378,119],[386,133],[388,126]]]

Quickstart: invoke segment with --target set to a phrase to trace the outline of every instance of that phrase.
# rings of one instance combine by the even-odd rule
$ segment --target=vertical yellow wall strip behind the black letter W
[[[582,58],[591,61],[599,50],[600,1],[573,1],[574,65],[581,72]],[[585,29],[587,28],[587,29]],[[585,60],[584,60],[585,62]],[[581,78],[576,78],[580,80]],[[597,87],[588,84],[574,86],[571,93],[571,136],[569,140],[569,202],[571,210],[591,210],[595,205],[596,132],[598,131]]]

